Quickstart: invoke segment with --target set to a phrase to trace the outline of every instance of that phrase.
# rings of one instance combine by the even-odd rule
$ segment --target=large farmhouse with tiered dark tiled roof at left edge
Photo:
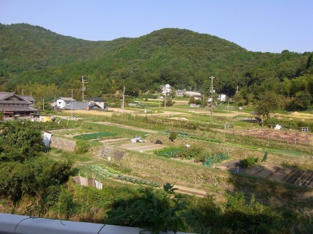
[[[29,101],[31,100],[31,101]],[[33,97],[19,96],[13,92],[0,92],[0,111],[5,118],[14,115],[29,116],[37,110],[33,108]]]

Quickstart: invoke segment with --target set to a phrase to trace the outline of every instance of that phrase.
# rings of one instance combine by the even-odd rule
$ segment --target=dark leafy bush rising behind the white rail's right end
[[[129,201],[119,202],[107,212],[109,224],[140,226],[152,233],[184,230],[186,201],[175,192],[174,185],[163,185],[164,192],[151,188],[142,190],[143,194]]]

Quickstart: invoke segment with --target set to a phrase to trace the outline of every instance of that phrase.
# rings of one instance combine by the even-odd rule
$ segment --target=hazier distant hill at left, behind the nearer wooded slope
[[[127,40],[91,42],[59,35],[40,26],[0,24],[1,72],[17,73],[89,60]]]

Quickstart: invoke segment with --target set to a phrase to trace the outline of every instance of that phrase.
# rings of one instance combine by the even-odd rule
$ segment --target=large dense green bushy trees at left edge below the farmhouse
[[[70,174],[70,162],[41,156],[44,149],[38,123],[0,122],[0,196],[17,201],[23,194],[42,199]]]

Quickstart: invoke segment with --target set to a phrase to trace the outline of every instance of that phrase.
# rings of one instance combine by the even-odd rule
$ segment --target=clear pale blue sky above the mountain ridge
[[[313,51],[313,0],[0,0],[0,23],[84,40],[186,28],[250,51]]]

